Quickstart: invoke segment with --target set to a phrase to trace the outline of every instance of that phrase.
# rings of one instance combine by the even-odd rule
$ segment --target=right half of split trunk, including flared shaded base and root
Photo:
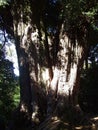
[[[65,28],[65,25],[61,28],[59,49],[56,57],[57,61],[56,64],[52,66],[53,78],[50,81],[47,95],[48,117],[44,123],[40,125],[39,130],[58,129],[59,119],[68,117],[69,122],[72,123],[72,119],[72,121],[74,121],[75,118],[77,122],[77,120],[81,120],[83,116],[78,102],[78,93],[80,75],[87,52],[86,33],[83,32],[79,35],[79,32],[74,32],[74,28],[72,27],[70,32],[65,32]],[[81,31],[83,30],[80,30],[80,32]],[[80,37],[78,37],[78,35]],[[72,117],[70,117],[71,114]],[[51,124],[52,121],[55,126]]]

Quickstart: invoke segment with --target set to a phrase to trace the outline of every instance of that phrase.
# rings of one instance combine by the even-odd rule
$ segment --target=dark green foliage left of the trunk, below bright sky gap
[[[0,115],[7,121],[18,103],[19,85],[13,64],[5,59],[3,51],[0,50]]]

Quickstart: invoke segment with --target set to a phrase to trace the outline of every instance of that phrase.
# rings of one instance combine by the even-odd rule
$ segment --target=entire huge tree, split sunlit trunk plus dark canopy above
[[[86,0],[11,1],[20,111],[28,113],[33,121],[42,112],[62,117],[65,108],[78,104],[80,74],[90,46],[92,17],[87,12],[95,16],[96,4],[90,1],[88,5]]]

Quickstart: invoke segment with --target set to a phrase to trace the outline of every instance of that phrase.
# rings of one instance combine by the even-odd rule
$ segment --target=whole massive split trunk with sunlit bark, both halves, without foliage
[[[79,35],[78,29],[71,25],[71,29],[66,31],[66,25],[62,24],[61,29],[57,30],[60,34],[54,40],[52,55],[52,41],[47,35],[46,25],[43,24],[44,30],[41,30],[40,18],[35,27],[31,24],[34,22],[31,18],[26,25],[23,22],[23,7],[18,8],[13,19],[20,70],[20,111],[29,113],[30,119],[33,122],[37,119],[38,123],[39,112],[45,113],[44,109],[47,109],[46,117],[63,117],[70,106],[78,105],[80,74],[87,49],[86,34]],[[41,83],[45,84],[47,96],[43,95]]]

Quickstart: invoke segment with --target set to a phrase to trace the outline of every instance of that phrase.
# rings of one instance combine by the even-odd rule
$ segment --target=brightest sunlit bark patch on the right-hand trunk
[[[74,89],[73,87],[76,83],[76,78],[79,76],[77,75],[78,69],[80,69],[78,68],[78,64],[83,56],[83,49],[77,41],[75,44],[75,47],[73,47],[66,34],[64,34],[60,39],[61,50],[58,53],[58,58],[61,61],[59,65],[60,69],[57,72],[54,71],[55,78],[51,83],[53,89],[55,88],[54,86],[58,80],[58,94],[60,95],[69,95],[69,93],[72,94]],[[59,77],[56,77],[55,75],[59,75]]]

